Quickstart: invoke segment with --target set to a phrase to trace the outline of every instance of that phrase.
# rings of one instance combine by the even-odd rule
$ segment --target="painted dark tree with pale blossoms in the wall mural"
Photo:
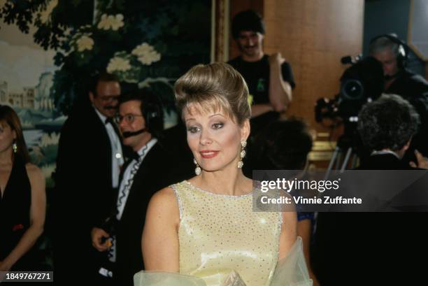
[[[23,32],[34,24],[34,41],[57,50],[52,92],[63,113],[87,97],[98,71],[115,73],[125,88],[150,86],[171,109],[174,80],[209,60],[210,1],[0,0],[0,7],[0,19]]]

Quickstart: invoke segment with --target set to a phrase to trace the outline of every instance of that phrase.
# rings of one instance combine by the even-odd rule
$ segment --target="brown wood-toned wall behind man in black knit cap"
[[[281,52],[292,65],[297,87],[287,115],[304,117],[311,127],[324,131],[315,122],[314,104],[338,93],[347,67],[341,57],[362,50],[364,0],[231,0],[231,16],[248,8],[264,17],[264,51]],[[231,57],[235,52],[231,43]]]

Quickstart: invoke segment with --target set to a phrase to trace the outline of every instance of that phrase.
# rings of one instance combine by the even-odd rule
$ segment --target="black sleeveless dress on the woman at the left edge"
[[[15,156],[12,171],[3,196],[0,198],[0,260],[5,259],[20,241],[30,226],[31,185],[24,160]],[[11,271],[31,269],[35,251],[29,250],[14,265]]]

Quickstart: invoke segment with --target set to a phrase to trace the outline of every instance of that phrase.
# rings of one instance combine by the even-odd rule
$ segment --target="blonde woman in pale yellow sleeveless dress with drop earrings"
[[[134,284],[311,285],[296,213],[252,208],[257,183],[241,170],[250,134],[241,74],[228,64],[199,64],[175,89],[195,176],[152,197],[142,238],[148,272],[137,273]]]

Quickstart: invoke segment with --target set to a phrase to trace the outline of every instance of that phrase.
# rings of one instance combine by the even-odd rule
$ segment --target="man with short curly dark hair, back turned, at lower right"
[[[383,94],[367,103],[358,119],[357,129],[364,147],[371,150],[371,156],[358,170],[383,170],[374,174],[378,181],[371,178],[371,182],[379,183],[380,189],[371,186],[370,192],[377,196],[376,191],[385,190],[385,185],[392,189],[404,187],[381,204],[378,213],[319,213],[312,248],[315,273],[320,285],[394,285],[397,279],[423,281],[425,272],[412,262],[428,255],[425,246],[428,238],[426,231],[422,231],[427,217],[425,213],[411,211],[427,211],[426,187],[420,187],[424,183],[426,186],[427,178],[420,176],[424,174],[422,171],[415,171],[418,180],[408,180],[415,174],[410,171],[417,169],[401,159],[418,130],[418,113],[401,96]],[[426,167],[427,158],[420,153],[417,157],[418,162],[413,166]],[[408,202],[411,204],[406,205]],[[408,212],[397,213],[400,210]]]

